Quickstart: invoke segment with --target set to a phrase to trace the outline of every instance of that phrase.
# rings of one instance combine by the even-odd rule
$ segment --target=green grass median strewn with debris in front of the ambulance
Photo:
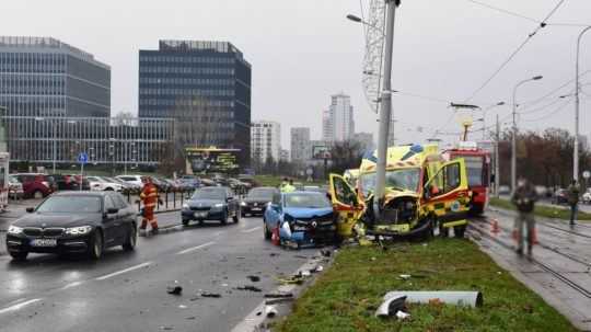
[[[577,331],[466,240],[346,248],[335,260],[274,331]],[[484,306],[409,305],[407,320],[375,318],[390,290],[479,290]]]

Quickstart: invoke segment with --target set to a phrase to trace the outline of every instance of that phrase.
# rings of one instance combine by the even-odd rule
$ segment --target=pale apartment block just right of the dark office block
[[[266,162],[281,158],[281,125],[271,121],[254,122],[251,127],[251,158]]]

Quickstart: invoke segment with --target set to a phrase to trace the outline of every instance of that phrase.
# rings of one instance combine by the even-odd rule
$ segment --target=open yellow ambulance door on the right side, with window
[[[422,208],[432,213],[445,228],[467,224],[470,198],[464,159],[444,163],[421,193]]]

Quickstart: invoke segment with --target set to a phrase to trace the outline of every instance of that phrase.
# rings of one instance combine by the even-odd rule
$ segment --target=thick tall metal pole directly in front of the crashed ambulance
[[[395,0],[386,1],[386,44],[384,49],[384,77],[381,93],[380,108],[380,130],[378,133],[378,164],[376,164],[376,183],[375,183],[375,199],[374,204],[379,204],[385,192],[385,167],[387,154],[387,136],[392,119],[392,51],[394,48],[394,19],[396,15]],[[374,209],[379,211],[379,209]]]

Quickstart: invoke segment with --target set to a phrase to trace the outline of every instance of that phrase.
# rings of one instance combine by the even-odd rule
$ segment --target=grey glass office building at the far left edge
[[[0,107],[9,116],[111,115],[111,68],[48,37],[0,36]]]

